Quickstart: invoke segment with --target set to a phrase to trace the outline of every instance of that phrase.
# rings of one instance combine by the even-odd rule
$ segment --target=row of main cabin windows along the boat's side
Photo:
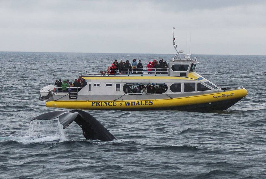
[[[183,92],[195,92],[196,91],[196,84],[197,84],[197,91],[209,91],[211,90],[209,87],[203,85],[202,83],[183,83]],[[212,83],[209,83],[208,81],[205,82],[208,86],[211,86],[214,89],[218,89],[216,86],[214,86]],[[94,83],[94,87],[100,87],[100,83]],[[112,87],[112,83],[105,83],[106,87]],[[156,86],[158,87],[159,93],[165,93],[168,89],[167,85],[165,83],[126,83],[123,86],[123,91],[125,93],[128,93],[129,89],[133,91],[135,88],[141,88],[141,86],[146,87],[147,86],[153,86],[154,89]],[[182,92],[182,83],[173,83],[170,85],[170,91],[173,93],[181,93]],[[121,86],[120,83],[115,84],[115,90],[120,91]],[[141,89],[140,89],[141,90]],[[89,83],[89,91],[91,91],[91,84]],[[156,91],[157,92],[157,91]],[[153,92],[153,93],[156,93]]]

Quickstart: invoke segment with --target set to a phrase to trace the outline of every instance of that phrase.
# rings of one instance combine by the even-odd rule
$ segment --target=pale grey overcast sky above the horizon
[[[266,55],[266,1],[3,1],[0,51]]]

